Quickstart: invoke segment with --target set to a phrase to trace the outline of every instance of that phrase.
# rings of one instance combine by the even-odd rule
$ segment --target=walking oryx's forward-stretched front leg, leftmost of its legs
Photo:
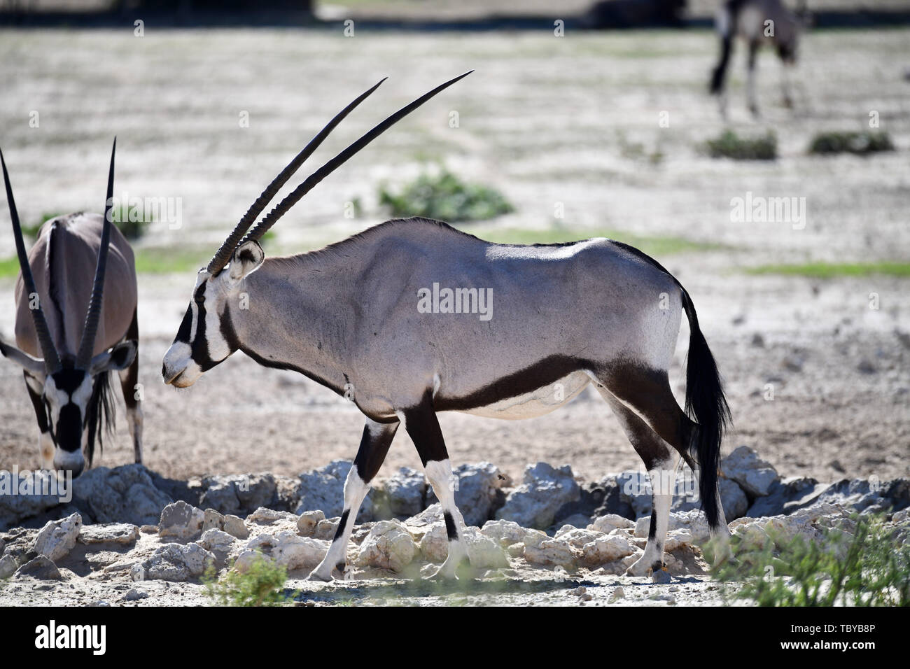
[[[331,581],[332,569],[344,573],[348,564],[348,542],[350,532],[354,529],[360,504],[369,492],[369,481],[373,480],[382,461],[386,459],[392,438],[398,430],[398,421],[379,423],[367,419],[360,438],[360,447],[354,465],[344,482],[344,510],[335,531],[335,538],[329,546],[329,552],[308,576],[310,581]]]

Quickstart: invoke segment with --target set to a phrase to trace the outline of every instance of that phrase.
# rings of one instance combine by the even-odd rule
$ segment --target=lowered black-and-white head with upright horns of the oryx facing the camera
[[[107,266],[107,249],[110,244],[111,207],[114,195],[114,155],[116,139],[111,150],[111,164],[107,175],[107,199],[105,221],[101,234],[101,247],[95,269],[95,281],[92,285],[91,299],[88,303],[85,328],[76,356],[61,356],[56,349],[54,338],[47,327],[44,310],[40,300],[35,299],[34,309],[29,309],[35,324],[35,335],[38,348],[43,358],[35,358],[24,350],[0,341],[0,353],[9,360],[17,362],[25,370],[25,380],[30,390],[40,394],[44,403],[47,428],[54,443],[54,466],[56,470],[69,471],[78,476],[85,467],[83,444],[86,431],[90,429],[92,418],[90,403],[96,392],[96,377],[109,370],[122,370],[128,367],[136,357],[136,342],[123,341],[116,346],[93,355],[98,323],[101,319],[101,306],[104,299],[105,271]],[[22,228],[15,209],[13,188],[3,153],[0,152],[0,163],[3,164],[3,177],[6,186],[6,201],[9,205],[10,218],[13,221],[15,249],[19,258],[19,269],[25,286],[25,296],[37,295],[35,278],[25,253],[25,242]],[[86,280],[87,277],[71,277],[73,281]],[[60,324],[63,328],[63,324]],[[42,427],[44,431],[44,426]]]

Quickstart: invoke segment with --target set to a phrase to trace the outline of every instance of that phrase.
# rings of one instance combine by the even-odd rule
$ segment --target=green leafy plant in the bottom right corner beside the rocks
[[[756,548],[734,536],[734,562],[713,575],[727,583],[728,597],[760,606],[910,606],[906,537],[880,517],[854,515],[843,524],[812,542],[768,532]]]

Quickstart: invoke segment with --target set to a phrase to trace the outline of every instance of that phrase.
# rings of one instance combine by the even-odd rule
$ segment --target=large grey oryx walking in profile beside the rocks
[[[703,508],[713,532],[727,532],[717,467],[728,410],[692,299],[657,262],[604,238],[537,246],[490,244],[423,218],[390,220],[327,248],[287,258],[265,258],[258,244],[319,180],[456,80],[389,117],[319,168],[244,238],[303,159],[373,89],[298,154],[249,208],[207,268],[199,270],[189,308],[164,359],[164,380],[191,386],[203,372],[242,350],[262,365],[297,370],[339,394],[348,391],[350,396],[353,390],[351,399],[366,416],[366,425],[345,482],[335,539],[310,574],[321,580],[331,579],[333,568],[344,571],[360,503],[399,426],[414,441],[442,504],[450,548],[438,575],[452,577],[467,553],[436,413],[529,418],[553,411],[593,382],[655,483],[647,547],[630,571],[660,569],[672,475],[680,458],[702,472]],[[475,295],[488,291],[490,319],[471,309],[420,309],[434,284],[461,287],[469,295],[471,290]],[[241,294],[248,296],[243,309]],[[673,399],[667,378],[683,311],[692,330],[686,409],[697,422]],[[669,489],[659,482],[667,478]]]

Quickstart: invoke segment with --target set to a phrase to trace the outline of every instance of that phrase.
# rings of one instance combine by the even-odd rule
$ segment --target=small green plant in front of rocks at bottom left
[[[281,606],[293,602],[283,590],[288,570],[259,556],[244,573],[229,571],[220,580],[214,567],[203,578],[206,595],[221,606]]]

